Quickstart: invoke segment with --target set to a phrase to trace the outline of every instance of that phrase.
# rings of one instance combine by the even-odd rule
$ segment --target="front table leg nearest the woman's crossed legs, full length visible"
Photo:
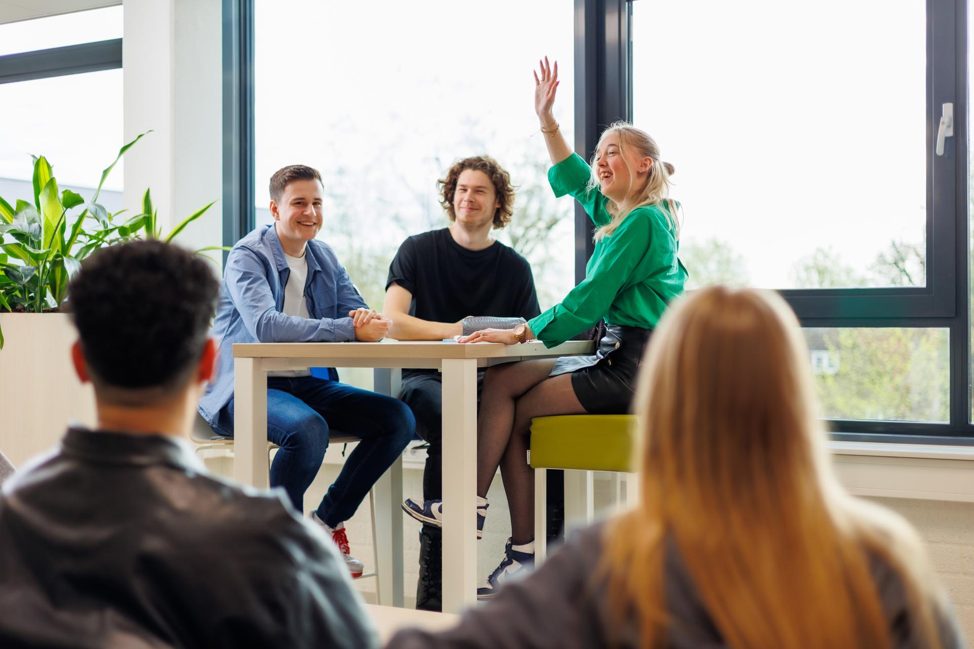
[[[443,612],[476,602],[477,364],[443,359]]]

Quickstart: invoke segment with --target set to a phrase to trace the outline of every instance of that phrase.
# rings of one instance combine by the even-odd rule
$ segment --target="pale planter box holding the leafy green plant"
[[[67,315],[0,313],[0,327],[0,451],[19,466],[55,446],[69,421],[93,425],[94,394],[74,374]]]

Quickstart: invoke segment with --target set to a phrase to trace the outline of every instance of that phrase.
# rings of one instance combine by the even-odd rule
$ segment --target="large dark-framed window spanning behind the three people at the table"
[[[359,283],[382,286],[398,241],[445,223],[437,221],[435,179],[477,137],[515,175],[521,198],[531,196],[525,188],[541,188],[543,211],[560,215],[567,204],[543,191],[543,143],[530,137],[530,73],[523,90],[513,73],[551,54],[566,82],[562,111],[575,95],[559,118],[566,132],[574,127],[581,155],[592,154],[606,125],[629,119],[676,165],[674,198],[686,215],[681,256],[694,285],[773,288],[795,309],[840,437],[974,438],[974,243],[968,183],[958,182],[970,166],[960,83],[966,2],[383,1],[369,6],[383,19],[368,22],[369,42],[382,48],[341,28],[362,24],[355,6],[289,2],[272,10],[270,0],[254,2],[255,13],[248,0],[227,5],[228,233],[252,227],[236,215],[253,210],[233,205],[263,207],[271,172],[311,163],[329,179],[341,217],[322,236],[340,244],[343,259],[364,260]],[[387,26],[400,24],[409,27]],[[321,25],[333,26],[327,38]],[[275,47],[281,40],[288,48]],[[377,61],[379,49],[395,54]],[[475,54],[457,54],[468,50]],[[478,85],[469,61],[485,57],[491,63],[479,78],[492,83]],[[284,83],[297,78],[296,61],[313,67],[304,86]],[[247,82],[251,63],[255,84]],[[374,87],[358,90],[362,77]],[[248,88],[256,89],[252,101]],[[954,132],[940,155],[944,104],[953,106]],[[314,126],[303,127],[305,115]],[[247,171],[254,150],[261,166]],[[568,226],[543,239],[540,249],[554,259],[525,251],[543,306],[580,277],[591,253],[587,218],[576,209],[574,221],[574,241]],[[369,237],[354,239],[356,228]]]

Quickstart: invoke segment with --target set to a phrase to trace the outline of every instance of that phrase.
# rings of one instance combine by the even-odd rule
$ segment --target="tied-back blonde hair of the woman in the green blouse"
[[[607,135],[612,133],[618,133],[618,152],[622,157],[622,162],[625,162],[626,168],[629,169],[630,183],[635,177],[635,174],[632,171],[632,166],[630,166],[629,161],[626,160],[626,152],[629,149],[635,151],[639,158],[653,159],[653,164],[650,166],[649,173],[646,174],[646,180],[643,181],[643,186],[635,192],[631,191],[632,188],[630,186],[630,191],[626,193],[626,198],[621,203],[617,203],[612,198],[607,197],[606,210],[612,216],[612,221],[595,231],[595,240],[599,241],[603,237],[616,232],[622,219],[637,207],[657,203],[670,222],[670,227],[673,229],[673,238],[679,240],[680,219],[677,213],[680,205],[676,200],[669,198],[670,176],[673,175],[675,169],[669,162],[659,160],[659,145],[656,144],[656,140],[645,130],[636,128],[627,122],[615,122],[602,131],[602,135],[599,136],[599,144],[595,148],[596,154],[592,156],[592,160],[589,163],[592,169],[592,175],[588,179],[589,191],[599,187],[598,172],[595,169],[595,156],[598,155],[597,152],[599,147],[602,146],[602,141]]]

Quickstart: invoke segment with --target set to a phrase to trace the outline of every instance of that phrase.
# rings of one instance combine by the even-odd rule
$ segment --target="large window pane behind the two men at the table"
[[[495,231],[532,263],[542,307],[574,285],[573,205],[547,187],[532,66],[559,61],[556,117],[573,132],[572,0],[358,3],[257,0],[257,221],[286,164],[324,177],[330,243],[370,306],[409,234],[448,225],[436,180],[486,154],[518,187]],[[365,28],[367,27],[367,28]],[[534,133],[534,134],[533,134]]]

